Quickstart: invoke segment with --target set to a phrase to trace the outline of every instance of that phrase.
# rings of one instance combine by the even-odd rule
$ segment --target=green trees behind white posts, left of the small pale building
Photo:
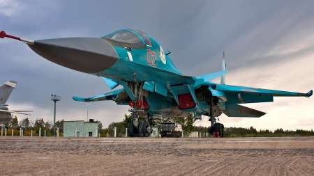
[[[58,120],[56,122],[56,135],[57,135],[57,127],[59,128],[59,136],[63,136],[63,121],[64,120]],[[12,135],[12,129],[13,129],[13,136],[20,136],[20,129],[23,129],[23,136],[31,136],[31,130],[33,130],[33,136],[39,136],[39,129],[41,128],[41,134],[40,136],[45,136],[45,130],[46,130],[46,136],[53,136],[54,134],[54,128],[53,128],[53,122],[47,120],[46,122],[43,120],[43,118],[36,119],[35,121],[29,120],[29,118],[24,118],[20,122],[17,120],[17,116],[10,120],[10,122],[4,123],[1,127],[4,129],[7,129],[7,136]],[[4,132],[3,132],[4,135]]]

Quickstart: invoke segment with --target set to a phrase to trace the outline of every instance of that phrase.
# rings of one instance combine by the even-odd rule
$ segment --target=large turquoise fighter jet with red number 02
[[[151,134],[152,121],[160,117],[195,119],[209,116],[209,132],[223,137],[223,124],[216,117],[225,113],[230,117],[259,118],[264,112],[239,104],[273,102],[274,97],[310,97],[308,93],[248,88],[225,85],[225,58],[222,70],[193,77],[177,70],[165,51],[154,38],[142,31],[122,29],[101,38],[54,38],[25,40],[0,33],[1,38],[13,38],[27,43],[33,51],[53,63],[79,72],[103,77],[110,89],[123,88],[95,97],[73,97],[79,102],[112,100],[129,105],[133,122],[130,136]],[[220,83],[210,80],[221,76]],[[138,122],[139,115],[147,120]]]

